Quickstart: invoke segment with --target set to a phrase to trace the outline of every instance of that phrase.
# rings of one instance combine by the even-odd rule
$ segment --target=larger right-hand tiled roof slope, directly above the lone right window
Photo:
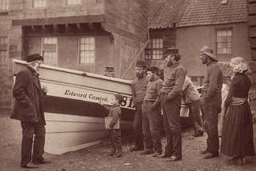
[[[246,0],[192,0],[178,26],[198,26],[246,22]]]

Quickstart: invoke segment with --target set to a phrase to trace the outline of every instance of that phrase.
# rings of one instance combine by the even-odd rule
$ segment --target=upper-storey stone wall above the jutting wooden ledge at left
[[[66,1],[46,1],[46,8],[33,8],[32,0],[10,1],[10,14],[18,19],[56,18],[66,16],[80,16],[103,14],[103,0],[81,0],[82,5],[67,6]]]

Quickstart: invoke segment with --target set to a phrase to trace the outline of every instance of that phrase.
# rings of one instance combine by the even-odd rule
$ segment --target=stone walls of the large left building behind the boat
[[[78,36],[58,34],[61,42],[58,45],[58,66],[74,70],[103,74],[106,66],[114,66],[115,76],[121,77],[126,66],[132,61],[147,39],[148,2],[144,0],[81,0],[82,5],[66,6],[66,1],[46,1],[46,8],[33,8],[33,1],[10,1],[10,10],[0,14],[0,36],[8,37],[9,65],[0,66],[0,109],[10,109],[11,89],[13,85],[12,60],[23,59],[27,54],[41,54],[40,35],[28,35],[23,26],[40,25],[56,26],[56,24],[76,24],[86,21],[94,25],[100,23],[92,35],[96,38],[96,63],[94,66],[78,65]],[[3,16],[4,15],[4,16]],[[84,19],[86,16],[86,19]],[[61,20],[59,22],[58,20]],[[58,23],[56,23],[58,22]],[[31,26],[33,25],[33,26]],[[39,26],[39,27],[40,27]],[[35,29],[35,27],[33,27]],[[102,32],[104,32],[102,34]],[[50,34],[53,36],[54,34]],[[33,37],[34,36],[34,37]],[[56,36],[56,35],[55,35]],[[134,78],[131,69],[125,78]]]

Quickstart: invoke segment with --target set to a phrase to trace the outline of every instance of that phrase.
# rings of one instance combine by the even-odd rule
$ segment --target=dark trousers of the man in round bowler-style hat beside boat
[[[143,133],[142,133],[142,102],[136,104],[136,112],[134,113],[134,141],[135,147],[143,149]]]

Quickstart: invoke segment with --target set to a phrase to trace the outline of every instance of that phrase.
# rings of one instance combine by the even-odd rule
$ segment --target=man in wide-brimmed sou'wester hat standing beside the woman
[[[204,158],[218,157],[218,113],[222,110],[222,83],[223,74],[218,66],[218,58],[208,46],[203,46],[200,52],[200,59],[206,65],[204,86],[202,88],[202,114],[204,125],[208,135],[206,140],[206,154]]]

